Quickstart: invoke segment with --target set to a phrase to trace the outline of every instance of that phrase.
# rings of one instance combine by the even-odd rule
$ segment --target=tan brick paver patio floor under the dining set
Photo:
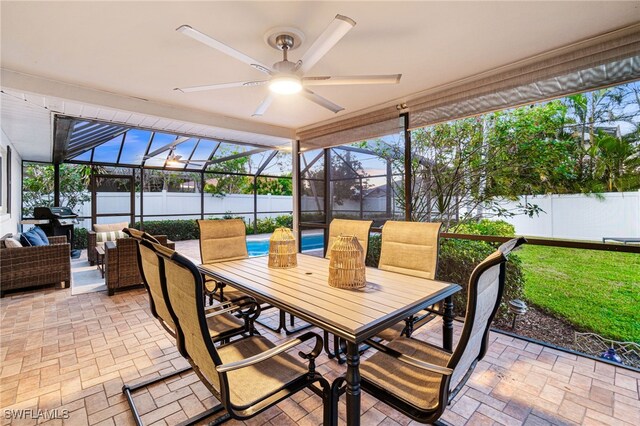
[[[2,424],[36,424],[12,423],[6,410],[13,409],[68,410],[66,420],[40,419],[38,424],[133,424],[123,383],[187,365],[151,317],[142,289],[108,297],[105,292],[71,296],[69,289],[50,288],[8,295],[0,307]],[[274,310],[266,314],[275,320]],[[260,331],[275,342],[286,339]],[[438,343],[439,331],[435,320],[416,336]],[[487,356],[448,407],[445,422],[640,424],[640,374],[497,333],[491,334],[491,342]],[[345,370],[324,354],[318,365],[330,381]],[[172,425],[216,403],[194,373],[148,387],[135,399],[145,425]],[[412,424],[367,394],[362,402],[363,425]],[[315,394],[302,392],[246,424],[316,425],[321,404]],[[343,422],[344,412],[341,402]]]

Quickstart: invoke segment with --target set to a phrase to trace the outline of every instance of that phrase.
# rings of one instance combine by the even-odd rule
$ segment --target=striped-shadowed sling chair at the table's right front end
[[[379,352],[360,366],[362,389],[415,421],[437,421],[487,352],[489,327],[504,289],[507,256],[525,242],[515,238],[504,243],[474,269],[462,335],[453,353],[405,336],[386,346],[368,341]],[[343,392],[342,383],[336,382],[334,407]]]

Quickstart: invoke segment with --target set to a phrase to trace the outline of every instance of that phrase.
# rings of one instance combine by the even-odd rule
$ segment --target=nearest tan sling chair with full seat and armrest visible
[[[201,297],[202,275],[179,253],[161,255],[165,260],[169,300],[177,316],[178,349],[221,402],[215,409],[226,410],[210,424],[219,424],[229,418],[249,419],[305,388],[323,398],[324,421],[328,424],[331,418],[330,386],[315,371],[315,359],[322,352],[322,338],[307,332],[275,346],[262,336],[250,336],[216,347],[209,336],[208,314]],[[299,352],[300,357],[308,360],[308,366],[287,353],[314,339],[311,352]]]

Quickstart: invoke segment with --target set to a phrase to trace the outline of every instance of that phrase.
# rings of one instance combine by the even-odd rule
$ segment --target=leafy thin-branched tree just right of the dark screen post
[[[571,138],[563,131],[566,107],[558,101],[436,124],[412,131],[412,220],[444,222],[449,228],[484,215],[533,215],[525,203],[506,211],[500,200],[523,194],[566,192],[575,175]],[[404,172],[400,148],[367,142]],[[404,185],[393,185],[405,208]]]

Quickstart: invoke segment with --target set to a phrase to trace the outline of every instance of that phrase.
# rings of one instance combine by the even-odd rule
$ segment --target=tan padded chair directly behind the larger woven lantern
[[[327,252],[324,257],[331,259],[331,247],[336,238],[341,235],[354,235],[367,258],[367,249],[369,247],[369,233],[371,232],[372,220],[350,220],[350,219],[333,219],[329,224],[329,238],[327,242]],[[333,337],[333,352],[331,351],[331,337]],[[328,331],[324,332],[324,351],[329,359],[336,358],[339,364],[344,364],[347,359],[342,355],[346,352],[346,343],[341,342],[336,335],[330,335]]]

